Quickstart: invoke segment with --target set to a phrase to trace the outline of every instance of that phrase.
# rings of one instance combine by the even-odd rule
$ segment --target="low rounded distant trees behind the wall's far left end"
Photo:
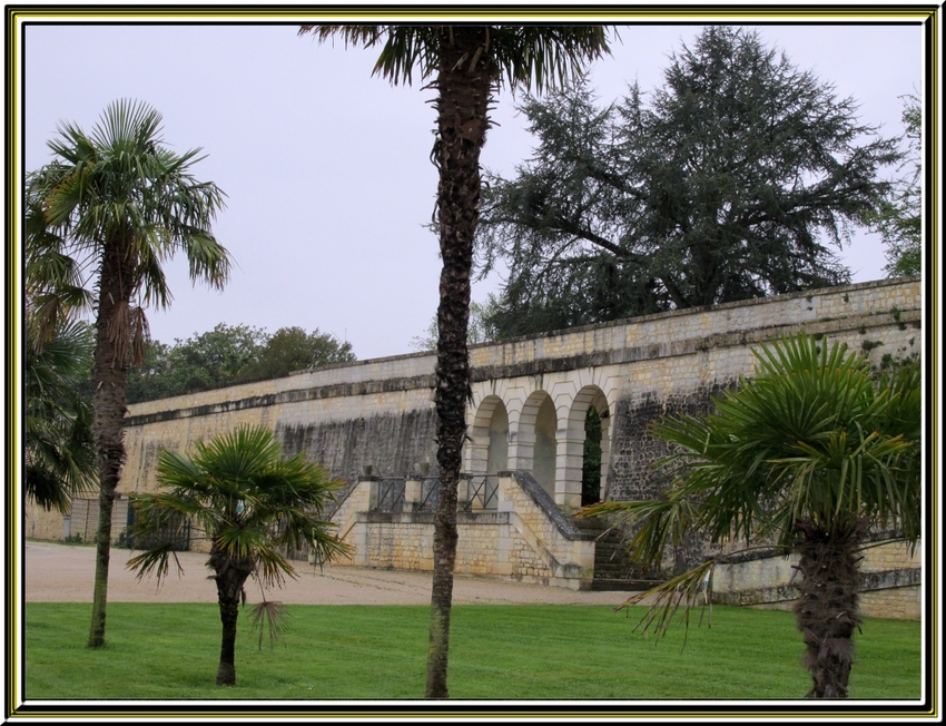
[[[351,343],[315,328],[264,328],[220,323],[174,345],[152,341],[145,360],[128,376],[128,401],[151,401],[209,391],[295,371],[355,361]]]

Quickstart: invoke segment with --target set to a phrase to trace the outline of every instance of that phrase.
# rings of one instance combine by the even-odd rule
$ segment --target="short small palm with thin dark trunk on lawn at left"
[[[268,587],[295,577],[286,548],[307,548],[317,562],[347,551],[326,519],[341,482],[303,453],[284,460],[268,429],[240,426],[207,444],[198,441],[193,455],[161,451],[158,487],[156,493],[131,496],[137,521],[129,533],[132,540],[151,543],[128,567],[139,578],[157,573],[160,581],[178,547],[175,524],[181,519],[197,524],[210,542],[207,566],[214,571],[223,622],[217,685],[234,685],[237,614],[247,578],[254,576]],[[275,632],[278,604],[264,599],[256,621],[264,615],[272,616]]]

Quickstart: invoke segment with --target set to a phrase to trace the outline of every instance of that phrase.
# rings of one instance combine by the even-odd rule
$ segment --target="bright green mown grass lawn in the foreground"
[[[108,606],[108,645],[85,647],[88,605],[28,604],[27,699],[420,699],[430,608],[289,606],[274,649],[237,637],[237,685],[214,685],[216,605]],[[605,606],[455,606],[450,687],[459,699],[789,699],[809,676],[788,612],[716,607],[712,627],[654,644]],[[920,697],[918,622],[868,619],[856,638],[850,696]]]

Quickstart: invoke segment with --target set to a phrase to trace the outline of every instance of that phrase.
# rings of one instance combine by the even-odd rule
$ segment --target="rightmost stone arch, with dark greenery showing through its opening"
[[[611,453],[611,408],[608,398],[598,385],[584,385],[572,400],[569,409],[564,435],[559,436],[558,447],[558,474],[560,496],[556,498],[560,504],[566,509],[581,507],[582,503],[582,472],[585,455],[585,425],[588,412],[594,409],[601,422],[601,467],[599,473],[599,494],[601,501],[605,496],[605,478]]]

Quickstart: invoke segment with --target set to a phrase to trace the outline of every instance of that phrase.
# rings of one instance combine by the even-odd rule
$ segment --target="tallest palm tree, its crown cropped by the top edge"
[[[480,150],[489,109],[502,85],[563,81],[585,59],[608,52],[602,26],[303,26],[321,41],[341,36],[367,48],[383,43],[374,68],[393,84],[434,77],[437,129],[431,159],[437,167],[435,222],[443,267],[437,306],[434,403],[441,490],[434,526],[434,575],[427,650],[427,698],[447,698],[450,614],[456,560],[456,485],[466,433],[470,361],[466,336],[473,233],[480,208]]]

